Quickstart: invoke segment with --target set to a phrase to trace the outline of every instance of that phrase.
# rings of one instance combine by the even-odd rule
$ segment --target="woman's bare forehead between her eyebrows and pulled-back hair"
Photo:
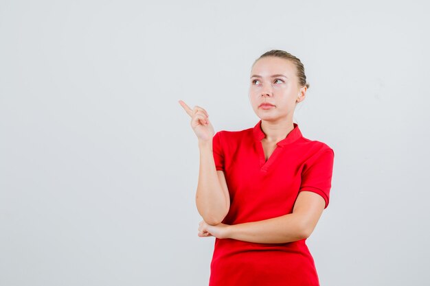
[[[274,74],[283,74],[287,78],[293,78],[296,74],[295,64],[291,60],[278,57],[260,58],[252,67],[251,75],[270,77]]]

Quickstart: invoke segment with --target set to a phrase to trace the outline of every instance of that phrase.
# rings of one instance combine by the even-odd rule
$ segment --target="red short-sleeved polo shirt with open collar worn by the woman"
[[[230,194],[224,224],[242,224],[293,212],[300,191],[313,191],[328,206],[333,150],[302,136],[297,123],[269,157],[261,140],[261,120],[241,131],[221,130],[213,139],[217,170],[225,172]],[[251,243],[215,239],[210,286],[319,285],[306,239],[289,243]]]

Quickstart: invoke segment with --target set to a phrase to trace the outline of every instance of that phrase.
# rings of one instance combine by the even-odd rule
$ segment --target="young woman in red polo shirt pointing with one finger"
[[[302,62],[286,51],[253,63],[253,128],[214,134],[204,108],[181,106],[199,139],[199,236],[214,236],[210,286],[319,285],[306,239],[328,206],[334,152],[302,136]]]

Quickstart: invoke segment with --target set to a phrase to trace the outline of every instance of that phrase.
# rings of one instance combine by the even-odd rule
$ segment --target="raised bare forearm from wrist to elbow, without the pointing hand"
[[[199,184],[196,191],[197,210],[207,224],[216,225],[229,212],[230,196],[224,171],[216,170],[212,141],[199,141]]]

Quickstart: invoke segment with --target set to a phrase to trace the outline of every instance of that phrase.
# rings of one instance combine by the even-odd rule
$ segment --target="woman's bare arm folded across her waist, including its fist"
[[[217,224],[204,221],[199,225],[199,237],[214,236],[219,239],[237,239],[254,243],[286,243],[306,239],[317,226],[326,202],[312,191],[301,191],[293,213],[244,224]]]

